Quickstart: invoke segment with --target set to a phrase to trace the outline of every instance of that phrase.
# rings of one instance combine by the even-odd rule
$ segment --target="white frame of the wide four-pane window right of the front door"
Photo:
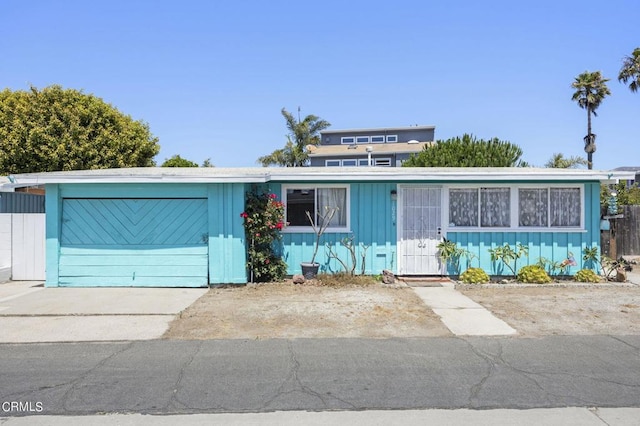
[[[481,223],[481,188],[509,188],[509,206],[510,206],[510,226],[508,227],[487,227],[480,226]],[[579,226],[551,226],[551,188],[560,189],[579,189],[580,190],[580,225]],[[585,189],[584,184],[516,184],[509,185],[505,183],[470,183],[446,185],[443,189],[444,199],[442,205],[442,218],[444,227],[449,232],[586,232],[585,228]],[[477,226],[455,226],[449,222],[450,205],[449,190],[450,189],[476,189],[478,191],[478,224]],[[547,226],[520,226],[520,189],[546,189],[547,190]]]

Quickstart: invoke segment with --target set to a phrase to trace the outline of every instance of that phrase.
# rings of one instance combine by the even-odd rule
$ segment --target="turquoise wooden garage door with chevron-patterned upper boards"
[[[60,286],[204,287],[206,199],[62,201]]]

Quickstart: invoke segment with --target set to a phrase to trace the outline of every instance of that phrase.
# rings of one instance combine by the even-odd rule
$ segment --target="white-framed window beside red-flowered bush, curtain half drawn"
[[[349,187],[346,185],[283,186],[286,231],[312,232],[307,213],[318,226],[327,211],[335,209],[328,229],[349,228]]]

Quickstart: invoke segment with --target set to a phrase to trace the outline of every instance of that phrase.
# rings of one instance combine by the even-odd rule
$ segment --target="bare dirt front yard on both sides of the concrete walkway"
[[[518,335],[640,334],[640,286],[460,290]],[[291,282],[211,289],[169,339],[451,336],[410,287]]]

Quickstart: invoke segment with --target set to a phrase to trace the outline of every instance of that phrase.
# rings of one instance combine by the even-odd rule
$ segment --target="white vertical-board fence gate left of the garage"
[[[0,214],[0,282],[45,279],[45,215]]]

